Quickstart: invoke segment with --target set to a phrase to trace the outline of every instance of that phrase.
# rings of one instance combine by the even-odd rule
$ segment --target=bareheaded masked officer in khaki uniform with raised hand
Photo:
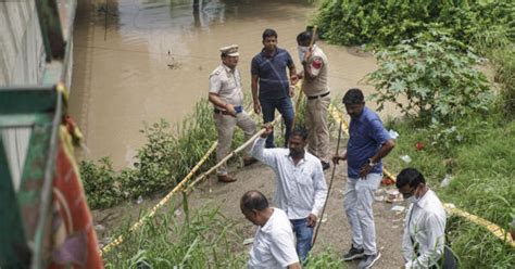
[[[327,75],[329,66],[326,54],[316,46],[314,33],[302,31],[297,36],[299,57],[304,69],[299,73],[302,91],[306,95],[305,126],[307,128],[307,150],[321,159],[323,169],[329,168],[329,128],[327,110],[330,104]]]

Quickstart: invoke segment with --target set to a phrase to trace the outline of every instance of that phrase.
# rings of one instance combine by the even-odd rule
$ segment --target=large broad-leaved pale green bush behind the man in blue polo
[[[378,110],[395,103],[405,116],[449,123],[486,112],[492,94],[478,57],[460,52],[448,35],[431,30],[376,53],[379,68],[367,76]]]

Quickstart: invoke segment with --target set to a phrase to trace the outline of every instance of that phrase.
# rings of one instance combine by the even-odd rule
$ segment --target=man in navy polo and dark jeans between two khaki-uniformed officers
[[[278,110],[285,120],[285,148],[293,126],[293,105],[290,98],[293,90],[290,88],[297,84],[297,71],[293,60],[288,51],[277,48],[277,33],[274,29],[265,29],[263,33],[263,50],[252,59],[252,99],[254,112],[263,112],[263,120],[274,120],[275,110]],[[286,69],[289,71],[289,77]],[[266,148],[275,148],[274,133],[266,139]]]

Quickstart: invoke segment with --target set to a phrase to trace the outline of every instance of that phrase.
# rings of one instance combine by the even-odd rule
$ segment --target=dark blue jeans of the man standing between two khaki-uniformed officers
[[[285,148],[288,145],[288,139],[290,138],[291,125],[293,124],[293,105],[291,104],[290,98],[281,99],[260,99],[261,111],[263,112],[263,121],[269,123],[274,120],[275,110],[278,110],[285,120]],[[274,132],[266,138],[265,148],[275,148],[274,144]]]

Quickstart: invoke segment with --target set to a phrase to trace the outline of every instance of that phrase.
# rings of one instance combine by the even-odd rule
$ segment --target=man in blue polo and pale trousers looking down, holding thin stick
[[[342,156],[332,157],[335,164],[340,159],[348,164],[343,204],[352,229],[352,245],[343,255],[343,260],[363,258],[357,267],[370,268],[380,257],[372,210],[374,191],[382,178],[381,158],[390,153],[394,143],[379,116],[365,107],[365,98],[360,89],[347,91],[343,104],[351,116],[349,142]]]

